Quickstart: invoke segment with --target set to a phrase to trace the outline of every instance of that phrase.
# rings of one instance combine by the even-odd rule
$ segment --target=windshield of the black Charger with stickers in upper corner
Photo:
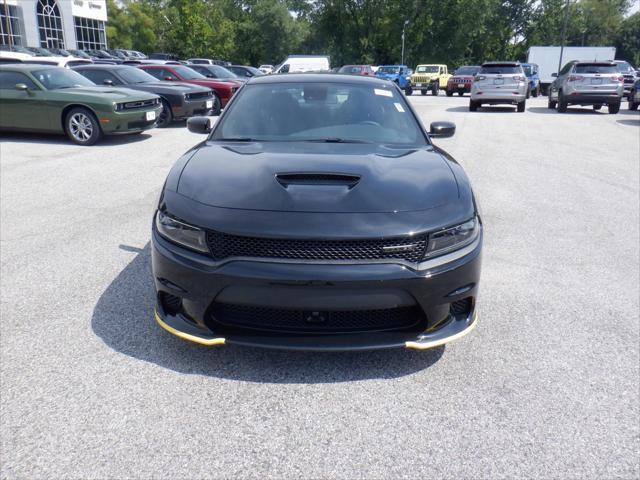
[[[427,143],[405,99],[391,86],[248,84],[237,95],[213,140]]]

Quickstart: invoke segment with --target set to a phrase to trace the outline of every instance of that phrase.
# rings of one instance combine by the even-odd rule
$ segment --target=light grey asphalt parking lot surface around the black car
[[[2,478],[637,478],[640,115],[413,96],[465,167],[479,325],[427,352],[207,349],[153,321],[183,126],[2,134]]]

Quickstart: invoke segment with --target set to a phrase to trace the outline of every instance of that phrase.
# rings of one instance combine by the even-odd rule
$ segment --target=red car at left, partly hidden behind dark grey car
[[[153,75],[158,80],[169,80],[176,82],[192,83],[202,87],[209,87],[214,91],[213,111],[217,115],[220,109],[224,108],[234,93],[242,85],[234,80],[216,80],[207,78],[195,70],[185,67],[184,65],[138,65],[138,68]]]

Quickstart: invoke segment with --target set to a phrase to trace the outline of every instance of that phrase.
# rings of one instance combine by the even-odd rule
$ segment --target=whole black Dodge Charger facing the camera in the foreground
[[[153,222],[156,321],[203,345],[425,349],[476,324],[482,219],[390,82],[249,80],[174,165]]]

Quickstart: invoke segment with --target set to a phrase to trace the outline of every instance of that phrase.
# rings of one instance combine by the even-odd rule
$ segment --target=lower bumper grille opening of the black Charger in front
[[[345,333],[411,328],[424,320],[416,307],[376,310],[314,311],[232,303],[214,303],[209,312],[212,328],[220,325],[290,333]]]

